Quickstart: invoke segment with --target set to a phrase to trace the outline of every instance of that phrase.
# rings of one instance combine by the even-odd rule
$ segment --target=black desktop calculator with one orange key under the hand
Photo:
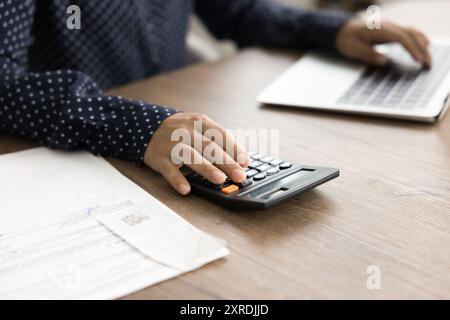
[[[256,152],[249,155],[251,162],[243,183],[227,179],[215,185],[191,173],[187,179],[192,190],[231,209],[261,210],[339,176],[338,169],[298,165]]]

